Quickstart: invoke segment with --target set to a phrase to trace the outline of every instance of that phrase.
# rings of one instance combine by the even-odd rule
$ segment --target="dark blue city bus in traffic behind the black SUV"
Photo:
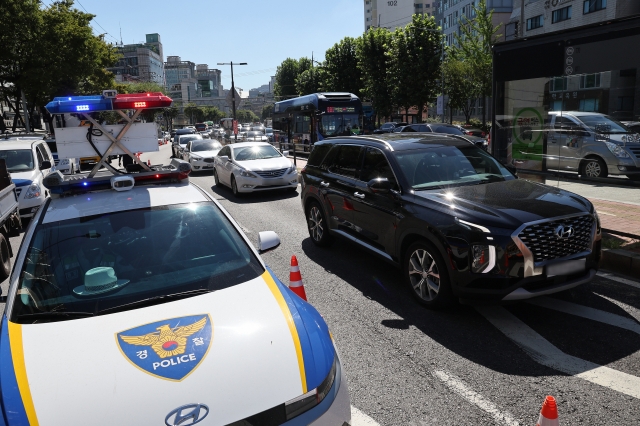
[[[362,102],[352,93],[313,93],[276,102],[272,119],[274,131],[309,151],[324,138],[360,134]]]

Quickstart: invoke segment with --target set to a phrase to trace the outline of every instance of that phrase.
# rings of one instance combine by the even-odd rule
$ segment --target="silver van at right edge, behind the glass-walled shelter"
[[[547,167],[640,181],[640,135],[596,112],[549,111]]]

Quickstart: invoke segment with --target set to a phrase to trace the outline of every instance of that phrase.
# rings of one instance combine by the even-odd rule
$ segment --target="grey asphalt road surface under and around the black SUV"
[[[167,162],[169,154],[165,145],[143,159]],[[381,425],[533,425],[553,395],[561,424],[638,424],[640,282],[601,273],[562,297],[427,310],[393,266],[343,241],[315,247],[299,193],[237,199],[210,173],[191,181],[254,243],[260,231],[278,233],[282,244],[263,258],[283,282],[297,256],[309,302],[339,348],[357,413]],[[375,424],[363,419],[359,424]]]

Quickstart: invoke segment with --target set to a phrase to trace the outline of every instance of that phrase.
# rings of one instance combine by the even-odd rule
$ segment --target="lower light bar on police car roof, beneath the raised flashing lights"
[[[85,176],[63,175],[59,170],[49,173],[42,184],[52,195],[64,196],[82,194],[91,191],[114,189],[126,191],[136,185],[152,185],[159,183],[178,183],[189,178],[191,164],[174,158],[171,165],[162,166],[159,170],[132,173],[122,176],[102,175],[93,178]]]

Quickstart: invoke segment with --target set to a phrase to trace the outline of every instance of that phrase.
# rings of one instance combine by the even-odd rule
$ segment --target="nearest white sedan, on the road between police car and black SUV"
[[[286,156],[266,142],[243,142],[223,147],[215,157],[216,185],[242,193],[298,188],[298,171]]]

